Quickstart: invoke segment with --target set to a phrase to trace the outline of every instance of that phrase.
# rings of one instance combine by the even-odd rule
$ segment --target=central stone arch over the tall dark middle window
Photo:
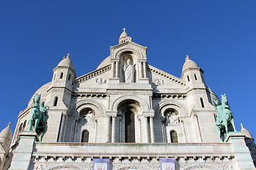
[[[146,103],[146,101],[144,101],[144,99],[138,97],[138,96],[121,96],[119,98],[117,98],[111,106],[111,111],[117,111],[117,108],[119,106],[119,103],[121,103],[122,101],[126,101],[126,100],[134,100],[139,102],[139,104],[142,106],[142,111],[149,111],[149,105],[148,103]]]

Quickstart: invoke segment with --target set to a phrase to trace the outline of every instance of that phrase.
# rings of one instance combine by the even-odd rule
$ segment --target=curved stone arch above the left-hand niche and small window
[[[80,111],[84,108],[92,108],[96,116],[105,115],[105,106],[92,99],[77,101],[73,106],[71,106],[69,115],[79,116]]]

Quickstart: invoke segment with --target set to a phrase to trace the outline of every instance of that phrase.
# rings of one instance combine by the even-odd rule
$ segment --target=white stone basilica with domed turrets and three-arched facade
[[[146,49],[124,29],[92,72],[76,77],[72,56],[63,57],[18,114],[13,137],[10,125],[0,133],[0,169],[255,169],[243,125],[216,132],[219,99],[203,69],[186,56],[174,77],[148,64]]]

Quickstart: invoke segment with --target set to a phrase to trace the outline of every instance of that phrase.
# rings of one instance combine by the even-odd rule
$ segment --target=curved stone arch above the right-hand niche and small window
[[[188,108],[186,106],[177,101],[170,100],[159,102],[159,105],[157,105],[156,108],[154,108],[155,115],[160,115],[164,117],[164,111],[168,108],[174,108],[176,111],[178,111],[178,115],[180,117],[184,117],[186,113],[189,113]]]

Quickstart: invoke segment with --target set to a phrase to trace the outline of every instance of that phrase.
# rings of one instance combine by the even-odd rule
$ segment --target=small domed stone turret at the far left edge
[[[12,136],[12,133],[11,133],[11,123],[9,123],[7,125],[6,128],[4,128],[4,130],[2,130],[0,132],[0,142],[1,142],[1,145],[2,147],[4,148],[4,151],[6,153],[9,152],[9,147],[10,147],[10,144],[11,144],[11,136]]]

